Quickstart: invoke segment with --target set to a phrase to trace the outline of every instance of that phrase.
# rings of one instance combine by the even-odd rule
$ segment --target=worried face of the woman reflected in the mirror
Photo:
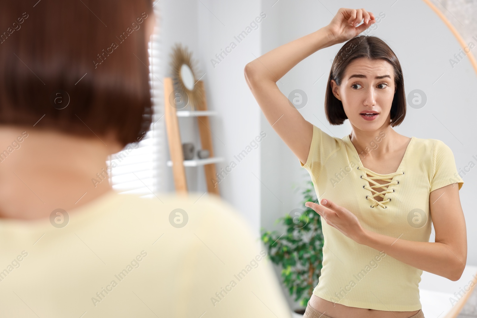
[[[395,92],[393,66],[384,60],[353,60],[346,67],[340,86],[332,80],[332,91],[342,102],[353,127],[365,132],[378,130],[391,120]]]

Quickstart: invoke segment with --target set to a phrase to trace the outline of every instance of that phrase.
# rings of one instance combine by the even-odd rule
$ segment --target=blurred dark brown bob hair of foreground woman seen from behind
[[[139,141],[152,120],[147,19],[152,0],[3,1],[0,124]]]

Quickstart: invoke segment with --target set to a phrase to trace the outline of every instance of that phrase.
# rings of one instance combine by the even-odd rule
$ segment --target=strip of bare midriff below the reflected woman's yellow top
[[[376,309],[366,309],[348,307],[336,304],[323,298],[311,295],[309,305],[311,308],[331,318],[409,318],[419,312],[415,311],[386,311]]]

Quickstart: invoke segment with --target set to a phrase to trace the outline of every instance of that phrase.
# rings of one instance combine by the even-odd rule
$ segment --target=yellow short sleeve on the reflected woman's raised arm
[[[332,137],[313,125],[310,152],[305,164],[300,161],[301,167],[305,168],[313,178],[318,177],[328,158],[339,150],[341,145],[341,139]]]

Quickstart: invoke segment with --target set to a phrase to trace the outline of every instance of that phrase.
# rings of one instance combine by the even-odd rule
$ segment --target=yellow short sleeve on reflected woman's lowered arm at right
[[[464,180],[457,173],[452,150],[440,140],[436,140],[434,146],[432,171],[430,192],[454,183],[458,184],[460,190],[464,185]]]

